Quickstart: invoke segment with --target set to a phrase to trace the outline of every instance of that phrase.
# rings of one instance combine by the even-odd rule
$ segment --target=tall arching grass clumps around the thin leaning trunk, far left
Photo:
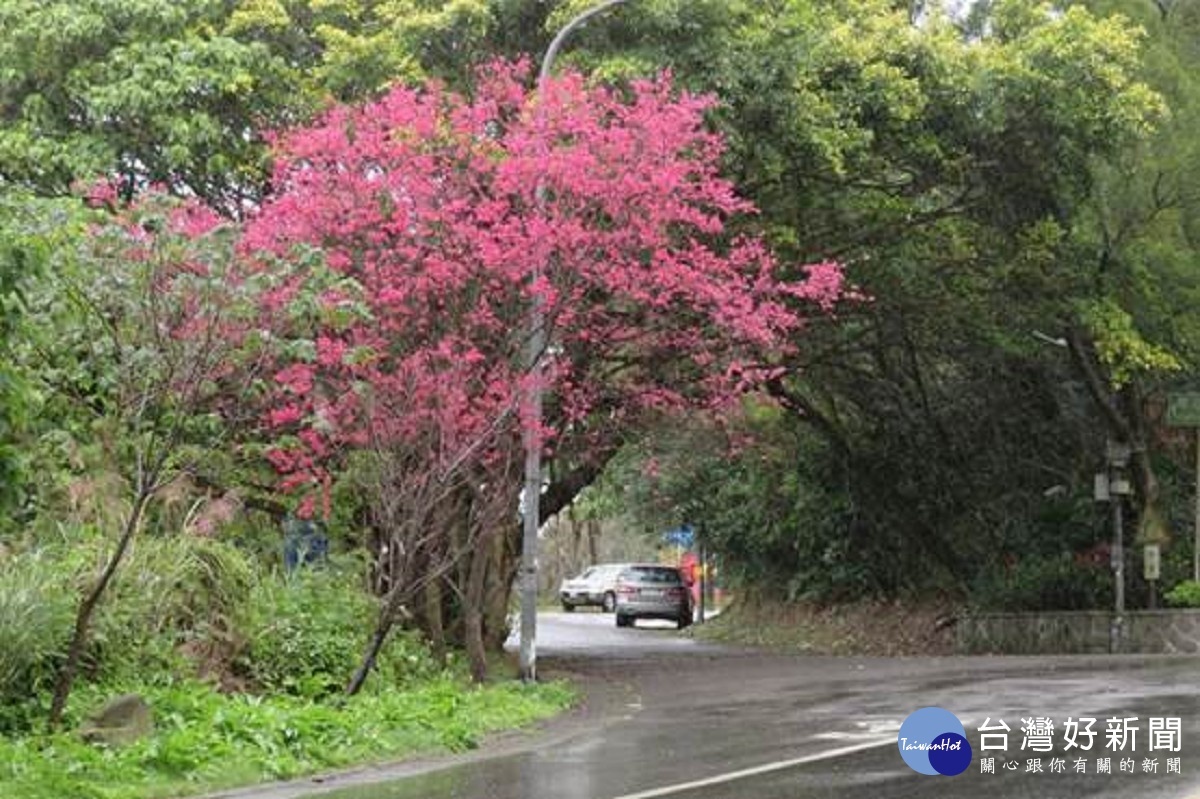
[[[65,656],[85,588],[108,557],[108,540],[86,527],[0,564],[0,731],[41,716]],[[101,600],[82,661],[90,681],[187,671],[179,645],[229,637],[253,583],[236,548],[194,536],[144,537]]]

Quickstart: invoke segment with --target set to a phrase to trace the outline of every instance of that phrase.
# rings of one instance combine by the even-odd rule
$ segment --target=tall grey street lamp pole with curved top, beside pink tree
[[[550,78],[550,70],[553,66],[554,56],[562,49],[566,37],[580,25],[592,17],[620,5],[626,0],[604,0],[574,17],[563,25],[541,60],[541,71],[538,73],[538,114],[545,114],[546,82]],[[542,118],[544,119],[544,118]],[[545,144],[545,143],[544,143]],[[538,181],[535,190],[539,210],[546,204],[546,185],[544,180]],[[541,280],[542,266],[536,264],[530,278],[533,283]],[[546,318],[541,298],[535,296],[533,310],[529,314],[529,348],[527,364],[529,367],[528,396],[526,397],[526,425],[524,425],[524,493],[523,493],[523,531],[521,541],[521,654],[520,672],[521,679],[532,683],[538,679],[538,530],[541,528],[541,419],[542,419],[542,366],[541,356],[546,348]]]

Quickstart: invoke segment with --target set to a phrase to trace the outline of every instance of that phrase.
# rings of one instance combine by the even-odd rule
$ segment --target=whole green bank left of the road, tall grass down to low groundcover
[[[413,630],[389,637],[364,691],[346,699],[378,613],[361,559],[286,575],[229,543],[145,539],[96,618],[62,732],[47,734],[95,543],[0,563],[2,799],[184,797],[461,751],[574,699],[564,684],[516,683],[499,661],[474,685],[461,656],[434,656]],[[152,732],[119,747],[86,743],[89,716],[126,693],[149,704]]]

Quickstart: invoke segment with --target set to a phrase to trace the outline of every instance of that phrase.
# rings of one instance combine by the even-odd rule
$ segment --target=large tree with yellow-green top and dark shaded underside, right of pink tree
[[[823,440],[796,444],[824,464],[797,473],[846,509],[792,534],[827,529],[886,594],[962,591],[988,564],[1094,543],[1075,500],[1103,428],[1034,332],[1082,318],[1098,162],[1162,116],[1138,30],[1024,0],[966,23],[874,0],[656,2],[608,23],[581,58],[625,73],[661,59],[716,88],[750,222],[788,260],[844,260],[871,298],[810,325],[772,385]],[[680,55],[631,44],[646,30],[695,35]],[[1048,535],[1063,504],[1069,535]]]

